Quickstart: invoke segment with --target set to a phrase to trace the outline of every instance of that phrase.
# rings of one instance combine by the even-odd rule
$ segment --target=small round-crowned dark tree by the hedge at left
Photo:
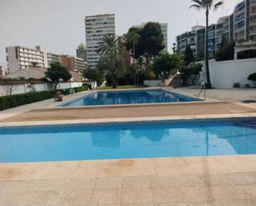
[[[64,66],[60,65],[58,62],[51,64],[51,67],[48,68],[45,77],[51,79],[51,82],[55,84],[54,89],[56,90],[60,82],[66,82],[70,80],[72,75]]]

